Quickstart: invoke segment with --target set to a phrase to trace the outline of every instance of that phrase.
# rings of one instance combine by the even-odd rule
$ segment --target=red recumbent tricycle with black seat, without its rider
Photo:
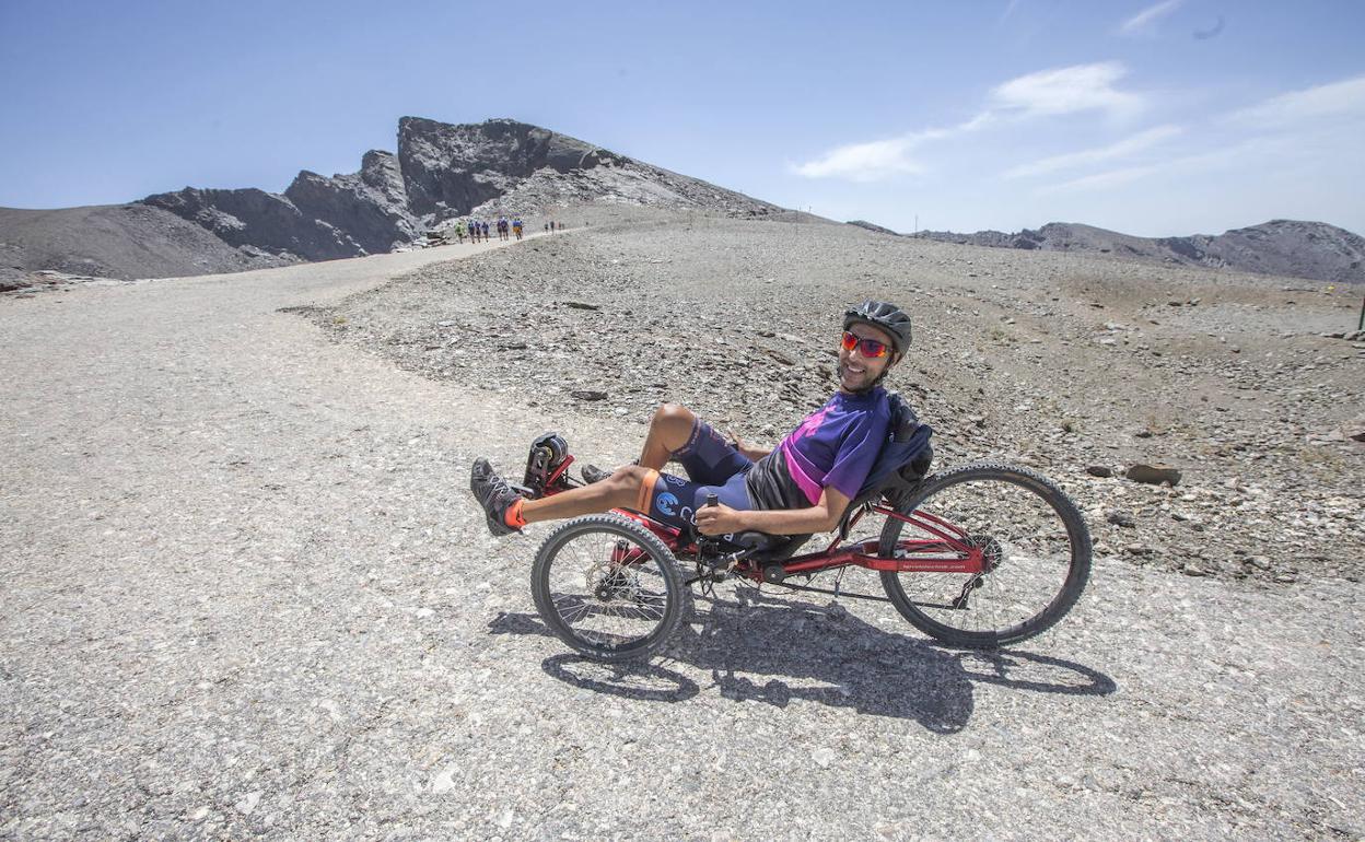
[[[603,662],[658,652],[682,621],[685,588],[743,579],[799,591],[889,600],[915,628],[957,647],[995,648],[1055,625],[1091,570],[1091,535],[1076,504],[1028,468],[975,463],[928,474],[932,430],[891,394],[891,426],[867,482],[823,549],[812,535],[708,536],[632,509],[556,527],[531,569],[546,625]],[[557,434],[535,439],[520,491],[576,487]],[[880,575],[885,596],[845,591],[844,573]],[[834,588],[814,587],[833,572]]]

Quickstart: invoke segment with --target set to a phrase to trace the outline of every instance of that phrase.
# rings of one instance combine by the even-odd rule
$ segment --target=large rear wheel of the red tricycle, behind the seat
[[[975,464],[934,475],[898,512],[910,523],[887,519],[879,555],[983,550],[981,573],[882,573],[901,615],[951,645],[991,648],[1046,632],[1072,610],[1091,573],[1085,519],[1051,480],[1025,468]]]

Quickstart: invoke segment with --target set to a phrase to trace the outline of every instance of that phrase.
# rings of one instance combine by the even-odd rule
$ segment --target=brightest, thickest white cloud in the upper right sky
[[[1082,111],[1132,113],[1143,106],[1143,97],[1114,87],[1126,74],[1118,61],[1044,70],[1001,85],[991,91],[991,102],[996,109],[1026,116]]]

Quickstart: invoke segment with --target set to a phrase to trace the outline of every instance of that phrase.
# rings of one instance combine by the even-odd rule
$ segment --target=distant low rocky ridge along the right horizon
[[[1136,237],[1074,222],[1048,222],[1037,231],[1025,228],[1018,233],[924,231],[913,236],[994,248],[1110,254],[1335,284],[1365,282],[1365,239],[1325,222],[1271,220],[1216,236],[1196,233],[1159,239]]]

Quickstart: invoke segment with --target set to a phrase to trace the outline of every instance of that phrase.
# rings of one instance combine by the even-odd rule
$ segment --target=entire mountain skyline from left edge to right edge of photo
[[[590,205],[829,222],[509,117],[453,124],[404,116],[397,151],[371,149],[351,173],[302,169],[283,192],[184,187],[124,205],[0,209],[0,281],[11,280],[0,289],[41,270],[132,280],[362,257],[465,216],[523,214],[535,229],[536,216]],[[969,235],[849,224],[946,243],[1365,282],[1365,239],[1325,222],[1271,220],[1183,237],[1074,222]]]

